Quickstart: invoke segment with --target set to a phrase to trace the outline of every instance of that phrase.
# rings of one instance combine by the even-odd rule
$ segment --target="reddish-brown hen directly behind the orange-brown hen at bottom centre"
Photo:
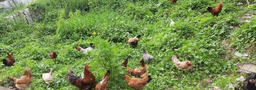
[[[147,66],[145,65],[145,62],[143,60],[140,61],[140,68],[135,68],[134,70],[129,68],[127,70],[127,73],[130,73],[133,76],[141,76],[142,74],[147,72]]]

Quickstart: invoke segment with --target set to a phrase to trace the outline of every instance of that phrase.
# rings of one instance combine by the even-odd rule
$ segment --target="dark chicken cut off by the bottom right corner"
[[[244,90],[256,90],[256,74],[245,79]]]

